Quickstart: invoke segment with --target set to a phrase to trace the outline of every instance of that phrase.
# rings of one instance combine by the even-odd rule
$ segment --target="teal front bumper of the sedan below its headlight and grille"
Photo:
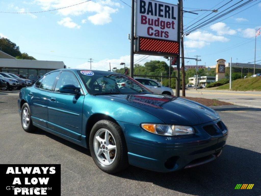
[[[161,136],[143,130],[139,125],[118,122],[125,135],[129,164],[158,172],[191,168],[216,159],[225,146],[226,134],[210,136],[203,126],[193,126],[194,135]]]

